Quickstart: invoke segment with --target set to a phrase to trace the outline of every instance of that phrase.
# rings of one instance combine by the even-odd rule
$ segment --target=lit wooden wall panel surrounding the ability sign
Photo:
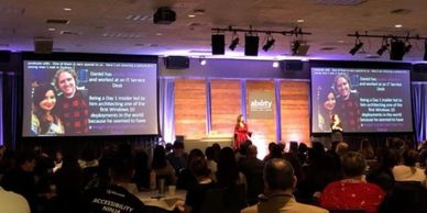
[[[247,104],[251,91],[271,91],[274,93],[274,81],[247,81]],[[273,103],[274,117],[276,114],[275,102]],[[248,108],[247,108],[248,109]],[[252,141],[259,148],[259,156],[264,156],[267,144],[276,141],[275,119],[248,119],[248,125],[252,134]]]

